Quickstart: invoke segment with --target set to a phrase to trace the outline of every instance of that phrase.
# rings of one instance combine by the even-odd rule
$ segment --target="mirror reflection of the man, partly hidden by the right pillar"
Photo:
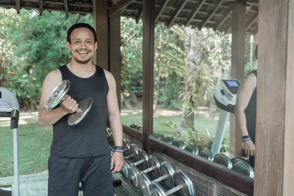
[[[255,58],[257,60],[257,45],[255,48]],[[241,83],[234,111],[242,132],[244,151],[249,155],[249,162],[252,168],[254,168],[255,155],[256,86],[257,69],[247,73]]]

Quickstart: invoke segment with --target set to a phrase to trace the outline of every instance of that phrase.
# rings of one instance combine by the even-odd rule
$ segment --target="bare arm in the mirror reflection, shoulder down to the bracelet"
[[[237,100],[234,109],[234,113],[239,125],[239,128],[242,132],[242,136],[248,135],[248,130],[246,126],[246,117],[245,109],[248,106],[249,100],[256,88],[257,79],[253,73],[248,73],[244,81],[241,83],[238,93]]]

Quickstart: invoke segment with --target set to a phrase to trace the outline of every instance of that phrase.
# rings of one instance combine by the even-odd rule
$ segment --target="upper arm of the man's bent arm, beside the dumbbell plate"
[[[62,81],[62,76],[59,70],[54,70],[48,73],[48,75],[44,79],[43,86],[42,86],[39,110],[45,107],[46,99],[49,97],[50,93],[61,81]]]

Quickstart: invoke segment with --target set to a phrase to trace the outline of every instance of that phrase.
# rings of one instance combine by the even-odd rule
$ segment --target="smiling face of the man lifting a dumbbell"
[[[94,42],[93,32],[82,27],[73,30],[71,43],[67,42],[67,47],[72,51],[72,57],[77,63],[86,64],[97,49],[97,42]]]

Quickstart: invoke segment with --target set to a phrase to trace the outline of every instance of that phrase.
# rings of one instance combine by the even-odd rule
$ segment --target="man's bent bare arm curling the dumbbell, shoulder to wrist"
[[[48,126],[56,123],[61,119],[64,115],[66,115],[65,111],[63,111],[60,107],[52,110],[45,109],[46,99],[49,97],[50,93],[53,89],[62,81],[62,76],[59,70],[54,70],[46,76],[43,82],[42,94],[39,105],[39,124],[43,126]]]

